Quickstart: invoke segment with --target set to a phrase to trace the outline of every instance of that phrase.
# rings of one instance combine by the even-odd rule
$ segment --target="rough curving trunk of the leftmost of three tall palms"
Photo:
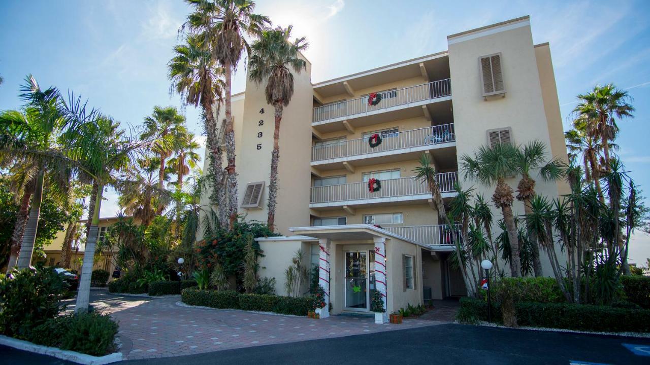
[[[212,101],[205,98],[203,99],[203,115],[205,116],[205,133],[206,145],[210,149],[210,167],[212,180],[212,195],[210,196],[211,203],[217,207],[217,217],[220,227],[226,227],[229,216],[229,207],[226,200],[226,186],[224,184],[224,169],[223,164],[223,151],[221,148],[221,141],[217,133],[217,123],[214,117],[214,110]]]

